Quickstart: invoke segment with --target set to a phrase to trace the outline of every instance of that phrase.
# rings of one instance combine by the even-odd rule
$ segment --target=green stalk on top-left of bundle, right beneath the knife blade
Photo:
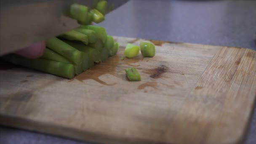
[[[68,32],[65,32],[64,34],[61,34],[59,37],[67,39],[67,40],[78,40],[83,42],[85,45],[88,45],[88,36],[81,33],[77,32],[75,30],[70,30]]]

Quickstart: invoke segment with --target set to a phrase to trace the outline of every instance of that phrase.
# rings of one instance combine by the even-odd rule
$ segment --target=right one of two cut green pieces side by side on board
[[[141,54],[143,57],[155,56],[155,45],[149,42],[140,43]]]

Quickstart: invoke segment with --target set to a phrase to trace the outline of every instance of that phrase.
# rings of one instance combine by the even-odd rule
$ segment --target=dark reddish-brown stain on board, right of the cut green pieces
[[[149,74],[149,77],[152,78],[160,78],[163,73],[168,72],[168,67],[166,67],[165,65],[160,65],[159,67],[155,68],[155,69],[147,69],[147,70],[143,70],[143,73]]]

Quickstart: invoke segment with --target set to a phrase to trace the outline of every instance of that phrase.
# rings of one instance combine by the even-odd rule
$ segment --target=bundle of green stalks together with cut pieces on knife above
[[[81,26],[46,40],[46,48],[40,58],[27,59],[13,53],[2,58],[13,64],[68,79],[93,67],[95,62],[107,60],[117,53],[119,44],[107,35],[103,27],[88,25],[92,21],[104,21],[107,2],[101,0],[95,7],[88,10],[84,5],[71,5],[70,17]]]

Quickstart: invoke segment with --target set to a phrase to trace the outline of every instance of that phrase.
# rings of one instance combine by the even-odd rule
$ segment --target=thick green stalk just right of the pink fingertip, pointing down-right
[[[80,64],[82,53],[56,37],[46,40],[46,47],[50,48],[61,56],[69,59],[75,64]]]

